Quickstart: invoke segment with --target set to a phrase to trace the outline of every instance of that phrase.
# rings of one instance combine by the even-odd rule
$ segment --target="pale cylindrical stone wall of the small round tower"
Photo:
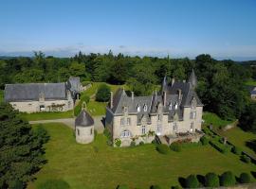
[[[94,126],[80,127],[76,126],[76,141],[80,144],[88,144],[94,140]]]

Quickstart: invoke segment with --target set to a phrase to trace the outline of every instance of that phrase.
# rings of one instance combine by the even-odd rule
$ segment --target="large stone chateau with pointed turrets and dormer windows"
[[[202,136],[203,104],[195,93],[197,78],[192,70],[188,82],[163,79],[161,91],[149,96],[128,96],[123,89],[106,108],[105,127],[113,144],[121,146],[151,143],[155,138],[163,144],[178,140],[196,142]]]

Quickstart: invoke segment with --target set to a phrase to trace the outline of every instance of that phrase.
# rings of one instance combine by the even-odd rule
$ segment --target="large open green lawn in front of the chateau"
[[[48,162],[36,174],[37,180],[28,184],[29,189],[49,179],[65,180],[75,189],[114,189],[120,183],[131,188],[159,184],[167,189],[179,184],[178,177],[190,174],[221,174],[230,170],[238,175],[256,169],[256,165],[242,163],[238,156],[224,155],[211,146],[162,155],[152,144],[133,148],[107,146],[102,134],[90,145],[79,145],[72,129],[62,124],[45,124],[44,127],[51,137],[46,144]]]

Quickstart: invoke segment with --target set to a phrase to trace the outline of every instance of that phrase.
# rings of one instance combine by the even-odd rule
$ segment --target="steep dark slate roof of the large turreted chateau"
[[[203,106],[201,100],[194,91],[192,83],[196,87],[197,79],[192,71],[189,82],[175,81],[174,84],[168,83],[166,77],[164,77],[162,82],[162,92],[157,94],[156,92],[149,96],[127,96],[124,90],[119,89],[113,97],[113,108],[111,109],[113,113],[119,114],[123,113],[123,107],[128,107],[129,113],[137,114],[137,122],[139,123],[142,117],[146,117],[147,121],[150,121],[150,116],[152,113],[157,112],[157,106],[162,105],[162,112],[168,114],[168,119],[173,120],[174,114],[178,115],[179,119],[183,118],[184,107],[190,107],[192,105],[192,99],[195,98],[196,106]],[[179,99],[178,91],[181,91],[182,97]],[[163,106],[163,93],[166,93],[166,106]],[[177,109],[175,105],[177,104]],[[140,106],[140,112],[137,112],[137,106]],[[144,111],[143,107],[147,106],[147,110]],[[172,108],[170,106],[172,105]]]

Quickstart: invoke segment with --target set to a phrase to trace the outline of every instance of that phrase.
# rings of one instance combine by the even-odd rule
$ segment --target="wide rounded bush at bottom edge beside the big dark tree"
[[[38,186],[38,189],[68,189],[69,184],[64,180],[46,180]]]

